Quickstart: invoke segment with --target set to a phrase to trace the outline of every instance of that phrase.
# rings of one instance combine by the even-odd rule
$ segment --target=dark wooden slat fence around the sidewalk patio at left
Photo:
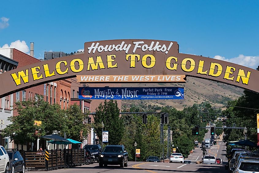
[[[54,170],[84,165],[83,149],[49,150],[49,160],[45,160],[45,151],[25,151],[23,153],[27,170]]]

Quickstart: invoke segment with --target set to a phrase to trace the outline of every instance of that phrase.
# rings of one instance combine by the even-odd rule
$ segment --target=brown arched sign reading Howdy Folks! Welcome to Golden
[[[175,41],[92,41],[86,42],[84,49],[83,54],[41,61],[0,74],[0,98],[50,81],[85,75],[111,78],[140,76],[142,79],[158,79],[160,76],[159,79],[168,77],[175,80],[126,81],[129,83],[179,82],[185,77],[177,76],[186,75],[259,92],[259,71],[226,61],[179,53]]]

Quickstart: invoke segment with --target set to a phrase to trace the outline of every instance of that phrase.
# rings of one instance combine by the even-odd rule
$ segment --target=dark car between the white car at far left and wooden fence
[[[7,151],[10,161],[11,173],[22,172],[25,173],[25,162],[19,151]]]

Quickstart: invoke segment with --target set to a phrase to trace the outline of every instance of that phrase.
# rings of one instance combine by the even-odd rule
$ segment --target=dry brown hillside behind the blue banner
[[[185,87],[184,100],[122,100],[122,109],[130,108],[131,104],[140,103],[157,106],[173,106],[182,110],[185,106],[192,106],[194,103],[200,104],[204,101],[213,106],[223,106],[227,101],[234,100],[242,95],[243,89],[231,85],[222,84],[215,81],[187,77],[186,83],[166,83],[166,84],[122,84],[122,87]]]

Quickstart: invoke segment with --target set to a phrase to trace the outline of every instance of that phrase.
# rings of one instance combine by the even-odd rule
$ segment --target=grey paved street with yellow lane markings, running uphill
[[[210,138],[210,132],[206,134],[205,138]],[[226,146],[222,141],[217,142],[217,145],[211,146],[207,149],[208,155],[215,155],[217,158],[223,159],[223,164],[227,164],[225,157]],[[195,162],[202,159],[202,151],[196,148],[187,160]],[[29,171],[28,173],[34,173]],[[50,171],[50,173],[121,173],[121,172],[140,172],[140,173],[227,173],[224,165],[209,165],[209,164],[184,164],[184,163],[150,163],[150,162],[129,162],[128,167],[120,168],[119,166],[99,167],[98,163],[92,165],[84,165],[82,167],[73,167],[68,169],[60,169]]]

